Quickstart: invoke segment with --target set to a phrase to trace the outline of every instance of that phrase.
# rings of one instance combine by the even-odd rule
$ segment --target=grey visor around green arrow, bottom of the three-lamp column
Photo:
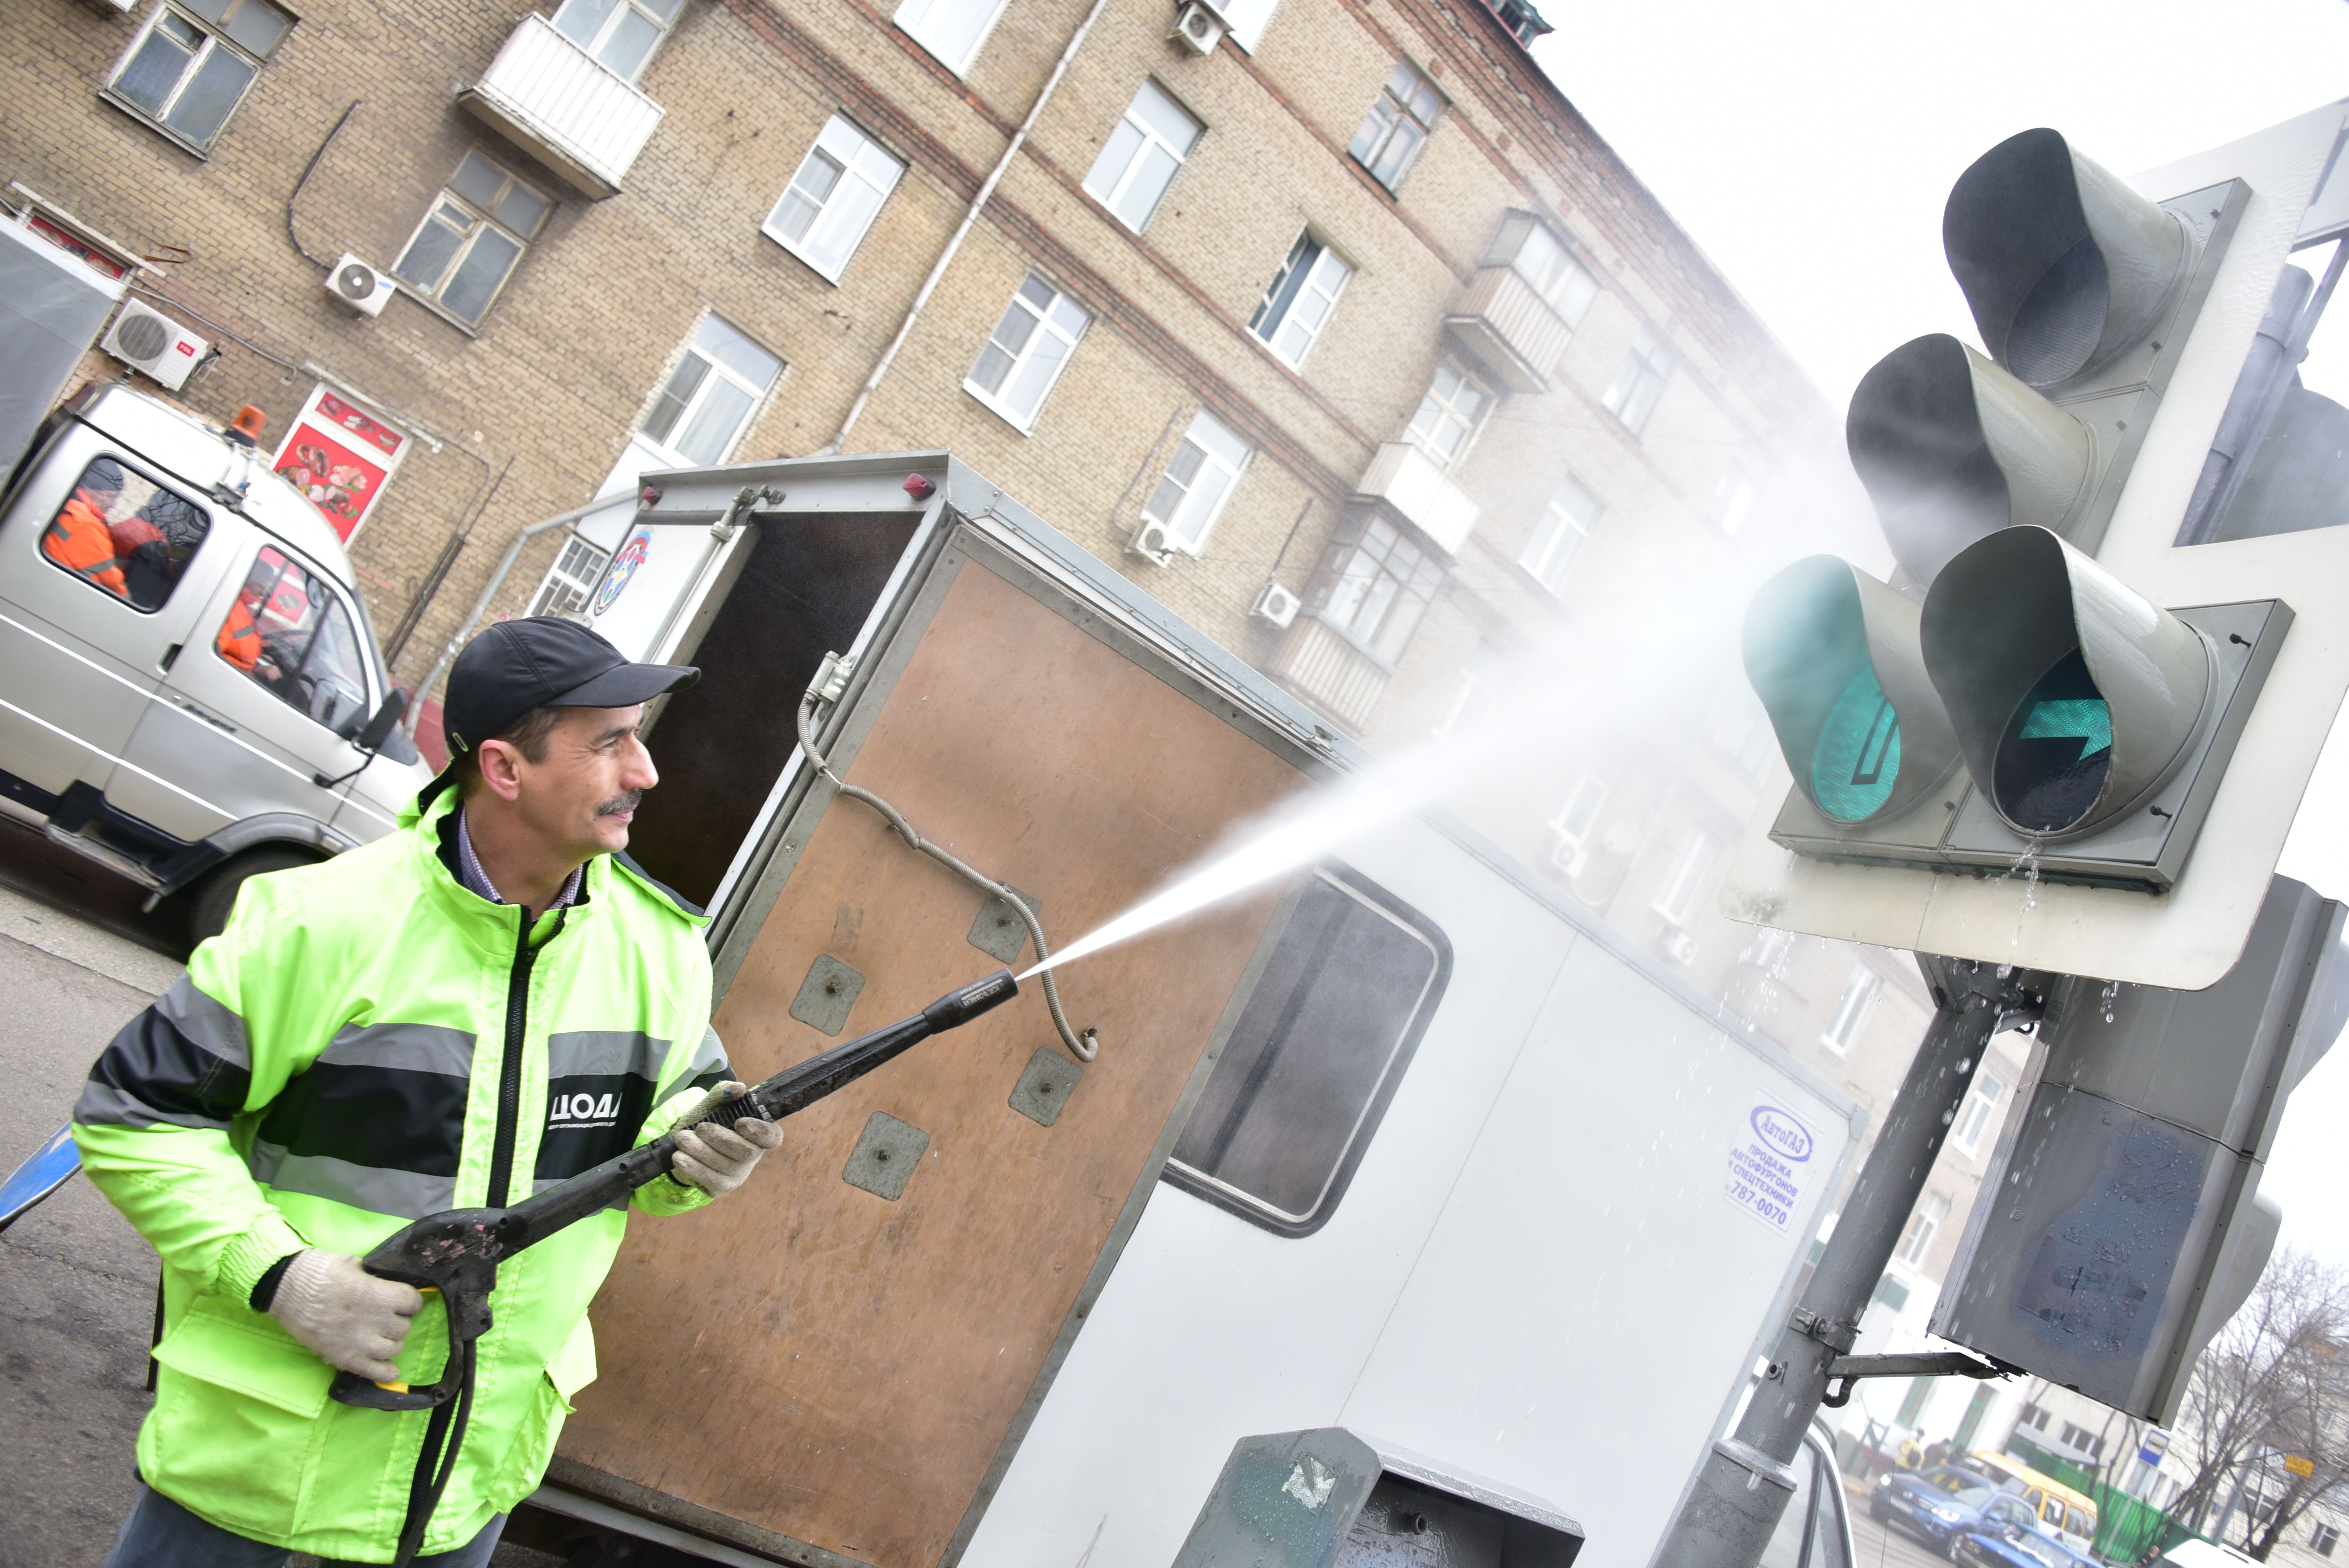
[[[2210,707],[2201,634],[2046,528],[1959,552],[1921,617],[1966,768],[2018,833],[2060,838],[2140,807]]]

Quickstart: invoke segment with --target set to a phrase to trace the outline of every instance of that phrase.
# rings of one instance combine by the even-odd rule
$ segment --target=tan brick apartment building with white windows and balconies
[[[1839,411],[1543,31],[1522,0],[14,0],[0,200],[214,345],[209,418],[261,404],[270,446],[336,397],[390,432],[350,549],[402,678],[526,523],[618,495],[491,599],[578,603],[644,469],[949,446],[1374,749],[1541,716],[1459,810],[1879,1122],[1914,967],[1715,911],[1778,789],[1734,638],[1637,723],[1593,692],[1640,678],[1637,606],[1703,584],[1734,629],[1771,566],[1882,542]],[[1919,1282],[1971,1202],[1945,1164]]]

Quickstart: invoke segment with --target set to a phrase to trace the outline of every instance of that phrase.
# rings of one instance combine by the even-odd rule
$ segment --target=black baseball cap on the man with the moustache
[[[557,615],[500,620],[456,655],[442,732],[458,758],[531,709],[625,709],[700,678],[693,664],[630,664],[606,638]]]

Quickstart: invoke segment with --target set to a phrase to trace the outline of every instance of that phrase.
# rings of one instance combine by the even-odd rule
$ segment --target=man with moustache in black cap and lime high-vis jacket
[[[336,1368],[432,1383],[439,1305],[357,1258],[413,1218],[500,1207],[660,1136],[731,1082],[702,913],[620,850],[658,782],[630,664],[571,622],[498,622],[449,674],[451,765],[399,831],[254,878],[188,974],[89,1073],[82,1167],[162,1256],[155,1408],[115,1568],[388,1563],[428,1413],[327,1397]],[[684,1214],[780,1143],[679,1134],[632,1204]],[[418,1563],[474,1568],[594,1378],[606,1211],[498,1270],[472,1420]]]

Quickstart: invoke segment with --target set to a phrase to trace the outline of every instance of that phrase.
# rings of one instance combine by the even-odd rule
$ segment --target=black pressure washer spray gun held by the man
[[[334,1378],[331,1392],[343,1404],[369,1411],[432,1411],[432,1425],[425,1432],[428,1460],[418,1462],[416,1469],[409,1516],[399,1530],[397,1561],[406,1563],[416,1554],[432,1507],[449,1486],[449,1476],[456,1474],[456,1453],[465,1441],[465,1415],[472,1406],[474,1343],[489,1333],[489,1293],[498,1286],[498,1265],[503,1261],[524,1246],[545,1242],[564,1225],[627,1202],[630,1192],[665,1176],[677,1155],[677,1134],[686,1127],[702,1122],[733,1127],[742,1117],[780,1122],[834,1089],[864,1077],[930,1035],[961,1028],[1015,995],[1019,995],[1019,981],[1012,979],[1010,969],[996,969],[982,981],[949,991],[911,1019],[900,1019],[848,1045],[836,1045],[822,1056],[810,1056],[794,1068],[785,1068],[742,1094],[728,1099],[712,1091],[709,1099],[681,1115],[669,1131],[651,1143],[606,1160],[592,1171],[580,1171],[510,1209],[451,1209],[432,1214],[392,1232],[366,1253],[362,1263],[369,1275],[397,1279],[418,1291],[439,1291],[442,1305],[449,1310],[449,1359],[442,1364],[437,1383],[369,1383],[357,1373],[336,1373]],[[446,1437],[446,1446],[442,1437]],[[437,1465],[430,1455],[437,1455]],[[430,1481],[428,1474],[432,1476]]]

